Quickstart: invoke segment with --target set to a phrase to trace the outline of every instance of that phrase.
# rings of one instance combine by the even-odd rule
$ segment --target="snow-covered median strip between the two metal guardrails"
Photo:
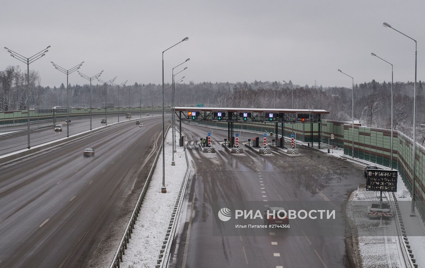
[[[171,214],[176,204],[178,192],[186,172],[186,158],[183,147],[177,146],[172,160],[172,132],[165,138],[165,185],[167,193],[161,193],[162,153],[153,173],[152,181],[140,210],[139,218],[127,246],[121,267],[145,268],[155,267],[158,260]]]

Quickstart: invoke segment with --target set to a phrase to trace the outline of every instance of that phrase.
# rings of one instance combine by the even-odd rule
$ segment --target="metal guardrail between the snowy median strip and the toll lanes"
[[[184,155],[186,156],[186,173],[184,174],[184,178],[181,183],[180,190],[178,192],[177,201],[174,205],[173,213],[171,213],[170,224],[168,224],[167,234],[165,235],[165,239],[162,242],[162,248],[159,253],[157,265],[155,266],[155,268],[167,267],[168,262],[170,260],[171,244],[173,243],[174,237],[176,236],[178,218],[181,212],[181,204],[183,203],[184,194],[186,193],[187,181],[189,180],[190,172],[192,171],[189,157],[187,155],[186,145],[184,146]]]

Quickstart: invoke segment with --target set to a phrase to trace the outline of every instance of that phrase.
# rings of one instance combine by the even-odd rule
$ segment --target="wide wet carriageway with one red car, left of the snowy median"
[[[0,167],[0,267],[84,267],[159,146],[161,118]],[[94,157],[83,157],[94,148]],[[145,178],[144,178],[145,179]]]

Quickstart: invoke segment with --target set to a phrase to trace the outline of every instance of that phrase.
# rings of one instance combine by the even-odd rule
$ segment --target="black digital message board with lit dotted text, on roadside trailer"
[[[367,169],[366,190],[397,192],[397,170]]]

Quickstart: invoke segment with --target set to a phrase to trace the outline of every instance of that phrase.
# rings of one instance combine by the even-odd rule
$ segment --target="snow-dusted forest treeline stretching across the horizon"
[[[44,87],[38,72],[30,70],[30,109],[34,107],[66,106],[66,85]],[[325,109],[330,111],[326,119],[351,121],[351,88],[347,87],[309,87],[289,81],[293,89],[294,109]],[[133,86],[129,89],[128,86]],[[416,85],[417,131],[425,123],[424,89],[422,81]],[[90,87],[85,84],[69,84],[69,103],[72,107],[90,106]],[[106,86],[107,102],[115,106],[160,106],[162,104],[162,85],[136,82],[121,87]],[[395,82],[394,129],[411,136],[413,126],[414,83]],[[105,102],[105,86],[97,81],[92,85],[92,106],[101,107]],[[171,84],[165,84],[165,102],[171,102]],[[291,108],[292,87],[280,81],[253,82],[202,82],[181,83],[176,86],[176,106],[251,107],[251,108]],[[28,106],[26,73],[19,66],[9,66],[0,71],[0,111],[25,110]],[[354,120],[363,126],[390,128],[391,123],[391,81],[375,80],[354,84]],[[418,140],[423,142],[423,136]]]

